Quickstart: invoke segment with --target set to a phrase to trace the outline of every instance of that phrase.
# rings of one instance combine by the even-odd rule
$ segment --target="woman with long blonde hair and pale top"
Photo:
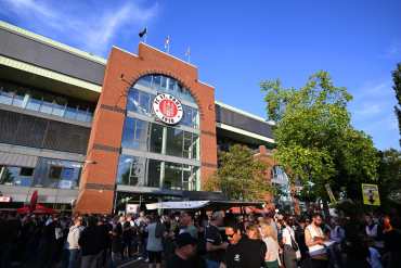
[[[274,229],[269,222],[263,221],[261,224],[261,231],[263,234],[263,242],[268,247],[268,251],[264,256],[264,264],[268,268],[279,268],[277,261],[279,244]]]

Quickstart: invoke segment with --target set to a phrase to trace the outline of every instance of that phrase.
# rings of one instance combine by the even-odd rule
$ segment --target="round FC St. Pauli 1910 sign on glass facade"
[[[155,97],[152,109],[157,118],[167,125],[177,125],[184,115],[184,110],[179,99],[172,94],[161,93]]]

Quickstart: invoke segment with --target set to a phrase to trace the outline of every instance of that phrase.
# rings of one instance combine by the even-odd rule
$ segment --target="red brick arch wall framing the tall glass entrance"
[[[197,80],[197,68],[144,43],[138,56],[113,48],[87,153],[95,164],[85,164],[75,210],[112,213],[127,94],[135,80],[150,74],[172,77],[192,93],[200,113],[203,180],[217,168],[215,89]]]

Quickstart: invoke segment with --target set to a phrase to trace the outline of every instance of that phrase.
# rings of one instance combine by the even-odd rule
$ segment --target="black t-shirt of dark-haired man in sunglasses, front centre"
[[[246,235],[227,247],[225,258],[229,268],[260,268],[261,265],[259,248],[255,248]]]

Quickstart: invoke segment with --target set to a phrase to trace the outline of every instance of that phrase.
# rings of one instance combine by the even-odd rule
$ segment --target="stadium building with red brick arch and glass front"
[[[148,44],[105,60],[0,22],[0,209],[36,190],[40,205],[102,214],[191,196],[241,143],[273,164],[267,179],[288,194],[271,203],[294,212],[271,127]]]

